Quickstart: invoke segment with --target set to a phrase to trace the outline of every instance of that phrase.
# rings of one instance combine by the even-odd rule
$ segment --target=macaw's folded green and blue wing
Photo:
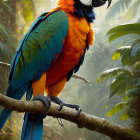
[[[42,21],[42,17],[38,18],[30,28],[12,62],[13,70],[9,80],[12,79],[12,87],[16,85],[15,89],[21,87],[25,80],[38,80],[42,73],[50,68],[56,54],[62,51],[63,38],[66,37],[69,28],[66,13],[58,11],[44,21],[40,22],[40,20]]]

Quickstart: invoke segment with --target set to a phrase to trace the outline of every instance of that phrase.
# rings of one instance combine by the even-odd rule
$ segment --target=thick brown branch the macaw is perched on
[[[140,140],[140,134],[132,129],[124,128],[120,125],[111,123],[104,118],[98,118],[84,112],[81,112],[79,116],[76,116],[76,111],[67,107],[63,107],[61,111],[58,111],[58,105],[54,103],[51,104],[48,112],[45,112],[45,106],[40,101],[18,101],[0,94],[0,105],[8,110],[30,112],[33,114],[46,114],[48,116],[62,118],[77,124],[79,128],[85,127],[115,139]]]

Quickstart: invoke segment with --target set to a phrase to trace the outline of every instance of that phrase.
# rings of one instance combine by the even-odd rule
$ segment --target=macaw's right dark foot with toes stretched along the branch
[[[82,108],[79,105],[76,104],[68,104],[68,103],[64,103],[62,100],[60,100],[58,97],[55,96],[50,96],[50,100],[53,101],[56,104],[59,104],[59,108],[58,110],[62,110],[63,106],[69,107],[69,108],[73,108],[77,110],[76,115],[79,115],[80,112],[82,111]]]

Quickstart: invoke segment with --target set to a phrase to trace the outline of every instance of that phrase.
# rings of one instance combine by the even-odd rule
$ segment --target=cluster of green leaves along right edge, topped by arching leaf
[[[113,68],[109,69],[105,72],[103,72],[100,77],[98,78],[98,82],[101,82],[103,80],[106,80],[110,77],[115,77],[113,82],[110,86],[110,97],[114,95],[120,95],[126,100],[130,100],[130,98],[133,98],[134,96],[139,96],[138,91],[139,89],[139,80],[140,80],[140,74],[139,74],[139,64],[140,64],[140,23],[135,24],[129,24],[129,25],[121,25],[117,26],[115,28],[112,28],[108,35],[110,35],[109,40],[110,42],[121,37],[124,35],[130,35],[130,34],[138,34],[139,38],[135,40],[134,42],[131,42],[129,45],[131,46],[124,46],[118,48],[114,54],[113,54],[113,60],[116,60],[121,58],[121,63],[124,67],[119,68]],[[113,37],[112,37],[113,36]],[[133,38],[133,35],[131,35]],[[118,57],[119,56],[119,57]],[[126,98],[127,97],[127,98]],[[124,107],[127,107],[126,105],[124,107],[120,106],[124,102],[119,103],[111,109],[111,112],[109,116],[116,114],[117,112],[124,109]]]

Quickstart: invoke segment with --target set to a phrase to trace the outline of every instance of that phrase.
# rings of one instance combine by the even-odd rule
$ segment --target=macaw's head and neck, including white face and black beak
[[[85,17],[88,22],[93,22],[95,19],[93,9],[104,5],[107,1],[109,7],[112,0],[59,0],[58,6],[76,16]]]

